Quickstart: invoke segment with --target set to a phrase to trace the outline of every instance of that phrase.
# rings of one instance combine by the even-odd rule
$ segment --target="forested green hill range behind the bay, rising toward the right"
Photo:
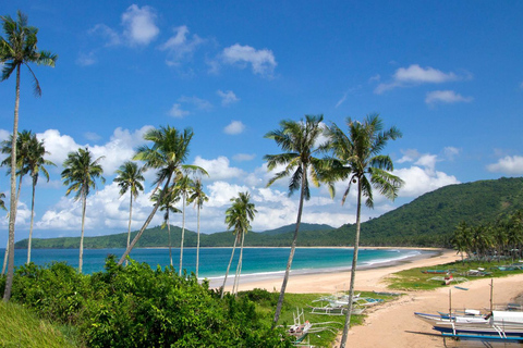
[[[425,194],[412,202],[362,224],[362,246],[447,246],[455,226],[465,221],[470,225],[495,221],[498,216],[523,209],[523,178],[500,178],[449,185]],[[250,232],[245,246],[289,247],[294,225],[260,233]],[[136,232],[132,234],[134,235]],[[299,246],[352,246],[355,225],[340,228],[305,224],[300,227]],[[172,245],[179,246],[181,228],[171,227]],[[202,234],[202,247],[230,247],[232,232]],[[78,248],[80,237],[34,239],[34,248]],[[124,248],[126,233],[86,237],[85,248]],[[136,247],[167,247],[167,229],[147,229]],[[196,247],[196,233],[185,229],[186,247]],[[26,248],[27,240],[16,243]]]

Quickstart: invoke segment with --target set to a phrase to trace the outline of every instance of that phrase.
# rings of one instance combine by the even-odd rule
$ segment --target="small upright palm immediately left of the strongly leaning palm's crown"
[[[136,162],[125,161],[117,170],[118,176],[114,178],[114,183],[118,183],[120,187],[120,197],[130,191],[130,201],[129,201],[129,227],[127,227],[127,248],[131,244],[131,222],[133,220],[133,198],[136,198],[139,195],[139,191],[144,191],[144,186],[142,183],[144,178],[144,169],[138,167]]]

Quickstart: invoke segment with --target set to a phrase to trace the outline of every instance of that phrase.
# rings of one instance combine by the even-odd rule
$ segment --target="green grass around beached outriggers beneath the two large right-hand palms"
[[[272,323],[279,293],[254,289],[251,291],[240,293],[240,296],[247,296],[251,300],[255,301],[256,311],[264,316],[264,320],[266,320],[267,323]],[[305,320],[308,320],[313,324],[329,322],[328,324],[324,324],[321,326],[328,326],[332,328],[332,331],[327,330],[320,333],[309,334],[308,337],[311,345],[315,347],[331,347],[338,334],[343,330],[345,315],[312,314],[311,308],[307,306],[312,306],[313,300],[316,300],[323,296],[325,296],[325,294],[285,294],[279,324],[285,326],[292,325],[293,314],[296,313],[296,309],[300,311],[303,309]],[[378,296],[374,293],[365,291],[363,291],[361,296],[379,298],[384,301],[397,298],[393,296]],[[353,314],[351,316],[351,326],[363,325],[365,316],[365,313],[362,315]]]

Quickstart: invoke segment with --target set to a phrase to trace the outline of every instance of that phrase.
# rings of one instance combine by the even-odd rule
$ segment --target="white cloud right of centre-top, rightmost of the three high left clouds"
[[[228,64],[251,64],[253,73],[262,76],[270,76],[277,65],[275,54],[268,49],[256,50],[251,46],[235,44],[223,49],[222,60]]]

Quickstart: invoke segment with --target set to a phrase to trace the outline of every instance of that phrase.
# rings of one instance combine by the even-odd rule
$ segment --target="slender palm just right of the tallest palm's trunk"
[[[46,160],[44,157],[46,154],[50,154],[46,151],[46,147],[44,146],[44,140],[38,141],[36,134],[33,135],[29,144],[29,149],[26,159],[26,170],[28,171],[32,179],[33,179],[33,195],[31,200],[31,227],[29,227],[29,240],[27,244],[27,263],[31,263],[31,246],[33,240],[33,223],[35,220],[35,194],[36,194],[36,184],[38,184],[38,177],[41,174],[47,178],[49,182],[49,172],[47,171],[45,165],[54,165],[49,160]]]

